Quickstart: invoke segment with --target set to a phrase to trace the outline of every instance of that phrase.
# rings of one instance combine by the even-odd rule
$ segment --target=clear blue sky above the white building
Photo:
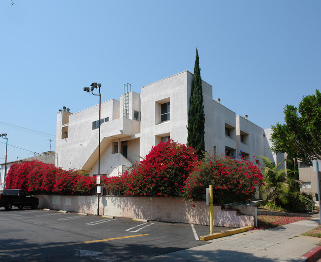
[[[320,0],[0,1],[0,133],[8,161],[50,149],[56,114],[188,70],[262,128],[321,87]],[[24,128],[24,129],[21,129]],[[26,130],[28,129],[28,130]],[[40,133],[41,132],[41,133]],[[18,148],[19,147],[19,148]],[[52,150],[55,143],[52,142]],[[0,163],[5,140],[0,138]]]

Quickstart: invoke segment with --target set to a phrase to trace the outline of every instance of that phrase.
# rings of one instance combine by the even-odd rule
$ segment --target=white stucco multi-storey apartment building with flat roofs
[[[146,156],[160,141],[187,143],[187,119],[193,74],[188,71],[125,92],[120,100],[101,103],[100,175],[118,175]],[[264,130],[217,99],[212,86],[202,82],[205,114],[205,151],[252,156],[272,156]],[[57,114],[56,166],[98,174],[99,105]],[[256,160],[256,162],[258,162]]]

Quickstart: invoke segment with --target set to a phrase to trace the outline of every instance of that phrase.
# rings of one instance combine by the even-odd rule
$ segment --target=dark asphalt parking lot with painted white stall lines
[[[209,234],[203,225],[16,208],[0,208],[0,221],[1,261],[137,261],[204,245]]]

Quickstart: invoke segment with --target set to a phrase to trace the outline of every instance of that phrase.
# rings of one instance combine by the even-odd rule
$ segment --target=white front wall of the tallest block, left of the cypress
[[[187,143],[188,101],[192,83],[184,71],[141,88],[141,154],[146,156],[160,137]],[[170,102],[170,121],[161,123],[161,104]],[[157,137],[158,136],[158,137]]]

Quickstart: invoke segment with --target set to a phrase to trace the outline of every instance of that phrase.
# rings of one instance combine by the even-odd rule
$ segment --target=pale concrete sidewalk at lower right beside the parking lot
[[[321,239],[301,234],[319,223],[318,217],[266,230],[252,230],[144,261],[306,261],[302,256],[317,248]]]

